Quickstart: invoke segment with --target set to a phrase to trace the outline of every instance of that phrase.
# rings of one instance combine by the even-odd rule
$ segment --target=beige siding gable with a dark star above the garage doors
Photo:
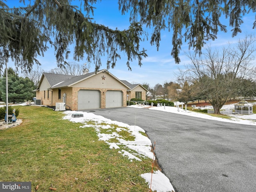
[[[124,84],[113,78],[108,73],[98,73],[72,85],[72,87],[127,89]]]

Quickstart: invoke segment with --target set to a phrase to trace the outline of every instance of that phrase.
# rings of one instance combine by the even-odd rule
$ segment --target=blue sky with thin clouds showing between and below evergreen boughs
[[[10,7],[15,3],[18,5],[18,0],[8,0],[6,4]],[[119,30],[127,29],[129,26],[129,14],[122,15],[118,10],[118,1],[117,0],[102,0],[94,5],[96,9],[94,10],[94,20],[98,24],[103,24],[109,28]],[[209,41],[207,46],[221,48],[225,46],[228,42],[237,42],[238,38],[243,38],[246,33],[254,33],[255,29],[252,29],[252,24],[255,19],[255,14],[250,13],[245,15],[242,20],[241,29],[242,33],[238,34],[235,38],[232,38],[231,28],[227,28],[228,32],[219,32],[218,38],[215,41]],[[228,26],[228,20],[225,20],[223,17],[223,24]],[[148,33],[152,29],[148,29]],[[151,46],[149,41],[142,42],[141,48],[147,50],[148,57],[143,58],[142,66],[138,66],[138,61],[130,62],[132,71],[128,70],[126,66],[126,56],[121,55],[121,60],[118,60],[116,67],[110,69],[109,72],[120,80],[127,80],[131,83],[148,83],[150,87],[154,87],[156,84],[164,84],[164,82],[176,81],[175,73],[178,72],[178,67],[182,68],[183,64],[188,64],[189,59],[184,56],[184,51],[188,52],[187,42],[183,42],[182,50],[180,51],[180,64],[175,64],[174,59],[171,56],[172,50],[172,32],[163,31],[161,34],[160,48],[157,51],[156,46]],[[73,50],[73,46],[70,46],[70,51]],[[190,50],[193,51],[193,50]],[[73,56],[70,55],[68,62],[76,62],[79,64],[84,64],[86,60],[80,62],[72,60]],[[85,56],[86,58],[86,56]],[[42,64],[41,68],[44,70],[50,70],[56,68],[56,59],[54,56],[54,50],[49,49],[44,57],[37,58]],[[106,68],[104,58],[102,58],[102,67],[101,69]],[[88,66],[89,64],[87,64]],[[13,63],[9,60],[8,66],[13,66]],[[36,67],[34,67],[36,69]],[[94,65],[90,64],[90,72],[94,71]]]

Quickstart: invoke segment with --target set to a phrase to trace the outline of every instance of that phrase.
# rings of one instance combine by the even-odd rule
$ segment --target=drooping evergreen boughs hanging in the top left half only
[[[86,0],[84,12],[72,6],[70,0],[36,0],[26,7],[8,8],[0,1],[0,68],[11,58],[16,68],[30,71],[33,64],[39,64],[37,56],[44,55],[47,45],[54,46],[58,67],[66,64],[70,54],[69,46],[74,44],[74,59],[94,63],[96,71],[101,66],[101,57],[108,56],[107,68],[114,68],[125,52],[127,61],[146,57],[146,50],[139,50],[142,26],[132,23],[127,30],[112,30],[92,22],[90,4]],[[30,2],[32,3],[32,2]],[[128,65],[128,68],[130,66]]]

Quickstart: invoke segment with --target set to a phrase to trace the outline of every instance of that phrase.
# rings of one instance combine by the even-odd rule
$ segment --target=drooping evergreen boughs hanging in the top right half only
[[[172,33],[171,55],[180,63],[182,39],[201,54],[208,40],[215,40],[219,30],[227,32],[220,17],[229,18],[232,37],[242,32],[242,16],[256,11],[255,0],[119,0],[122,13],[130,12],[130,21],[140,19],[143,26],[153,27],[151,44],[160,46],[162,30]],[[252,28],[256,27],[256,21]]]

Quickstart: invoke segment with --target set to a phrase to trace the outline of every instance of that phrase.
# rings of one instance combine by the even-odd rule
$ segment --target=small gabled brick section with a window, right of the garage
[[[144,88],[141,84],[130,84],[126,80],[121,81],[128,87],[130,87],[130,89],[127,90],[128,101],[130,101],[132,98],[146,100],[146,93],[148,92],[148,90],[146,90],[146,88]]]

